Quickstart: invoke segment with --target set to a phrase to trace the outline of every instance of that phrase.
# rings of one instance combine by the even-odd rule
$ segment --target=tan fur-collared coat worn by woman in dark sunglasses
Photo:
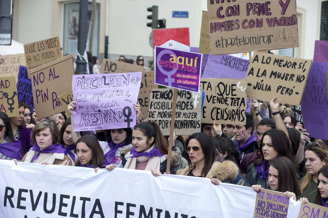
[[[190,172],[189,166],[183,170],[176,172],[176,175],[186,176]],[[236,185],[243,185],[243,177],[239,174],[239,168],[236,163],[231,160],[225,160],[222,163],[215,161],[212,164],[210,171],[207,173],[206,178],[217,178],[225,183]]]

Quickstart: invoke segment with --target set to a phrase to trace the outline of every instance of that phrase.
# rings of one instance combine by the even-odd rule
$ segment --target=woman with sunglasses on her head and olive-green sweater
[[[309,136],[310,134],[307,133],[307,130],[303,129],[301,143],[299,144],[300,147],[304,147],[306,141],[309,140]],[[303,196],[306,197],[310,203],[313,203],[317,193],[319,170],[328,162],[328,147],[318,142],[309,143],[305,147],[305,161],[307,172],[300,181],[300,188]]]

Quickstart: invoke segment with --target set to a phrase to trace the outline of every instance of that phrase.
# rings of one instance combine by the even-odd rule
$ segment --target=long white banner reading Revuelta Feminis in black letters
[[[249,187],[148,171],[0,160],[0,217],[253,218]],[[287,218],[298,216],[290,201]]]

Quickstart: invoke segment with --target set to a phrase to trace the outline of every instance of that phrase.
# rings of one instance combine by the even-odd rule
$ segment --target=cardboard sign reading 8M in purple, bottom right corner
[[[327,217],[327,215],[328,215],[328,208],[307,202],[305,204],[301,203],[301,208],[299,210],[298,218],[307,218],[307,217],[323,218],[323,217]]]

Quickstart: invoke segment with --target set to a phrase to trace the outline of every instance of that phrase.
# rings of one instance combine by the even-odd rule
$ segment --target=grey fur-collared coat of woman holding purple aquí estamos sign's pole
[[[127,146],[121,149],[120,151],[120,157],[121,157],[121,164],[124,167],[127,161],[127,158],[132,156],[130,153],[130,149],[132,146]],[[166,165],[167,165],[167,155],[163,155],[160,158],[160,166],[159,166],[159,171],[164,174],[166,172]],[[188,165],[187,160],[184,159],[181,154],[180,150],[176,149],[175,146],[172,148],[172,155],[171,155],[171,165],[170,165],[170,172],[173,174],[177,170],[183,169]]]

